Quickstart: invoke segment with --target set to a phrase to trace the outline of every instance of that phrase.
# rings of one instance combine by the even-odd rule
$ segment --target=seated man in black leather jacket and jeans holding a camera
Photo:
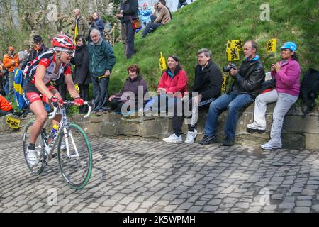
[[[205,135],[198,143],[203,145],[216,143],[218,116],[227,109],[228,116],[224,128],[223,145],[234,145],[238,111],[252,104],[255,97],[260,94],[262,82],[264,82],[264,66],[257,55],[257,43],[254,40],[245,43],[244,55],[245,61],[242,62],[239,70],[232,64],[224,67],[224,72],[229,70],[230,77],[233,77],[234,82],[230,91],[220,96],[209,106],[204,128]]]

